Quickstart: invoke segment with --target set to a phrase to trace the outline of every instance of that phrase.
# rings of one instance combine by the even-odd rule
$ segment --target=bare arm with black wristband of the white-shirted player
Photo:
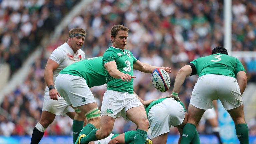
[[[49,86],[54,86],[54,82],[53,82],[53,71],[55,69],[57,69],[57,67],[59,66],[59,64],[57,62],[55,62],[52,59],[48,59],[45,69],[44,69],[44,80],[46,85]],[[51,89],[49,90],[49,96],[51,99],[53,100],[58,100],[58,96],[60,97],[57,89]]]

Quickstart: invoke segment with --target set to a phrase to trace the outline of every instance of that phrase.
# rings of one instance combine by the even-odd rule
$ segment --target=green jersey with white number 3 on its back
[[[199,77],[206,74],[217,74],[236,78],[239,71],[245,71],[237,58],[221,53],[201,57],[191,63],[196,68],[193,74],[198,74]]]

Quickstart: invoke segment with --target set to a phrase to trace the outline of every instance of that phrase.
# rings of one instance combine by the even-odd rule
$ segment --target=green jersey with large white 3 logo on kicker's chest
[[[137,61],[137,59],[133,56],[133,54],[129,51],[114,47],[109,47],[106,52],[103,54],[103,65],[107,62],[115,61],[117,65],[117,69],[120,72],[128,73],[133,76],[133,64]],[[122,79],[116,79],[108,73],[106,68],[104,67],[104,72],[106,76],[107,82],[107,90],[114,90],[119,92],[128,92],[133,94],[133,78],[131,81],[122,81]]]

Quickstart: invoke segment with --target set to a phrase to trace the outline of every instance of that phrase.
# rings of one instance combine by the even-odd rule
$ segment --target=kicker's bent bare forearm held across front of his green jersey
[[[109,75],[113,78],[121,78],[123,81],[131,81],[132,78],[136,78],[135,76],[131,76],[127,73],[122,73],[117,69],[116,62],[110,61],[104,64],[106,70],[108,71]]]

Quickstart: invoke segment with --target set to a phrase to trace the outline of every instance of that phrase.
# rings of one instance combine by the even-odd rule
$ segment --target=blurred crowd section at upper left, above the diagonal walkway
[[[0,63],[21,67],[78,0],[0,0]]]

